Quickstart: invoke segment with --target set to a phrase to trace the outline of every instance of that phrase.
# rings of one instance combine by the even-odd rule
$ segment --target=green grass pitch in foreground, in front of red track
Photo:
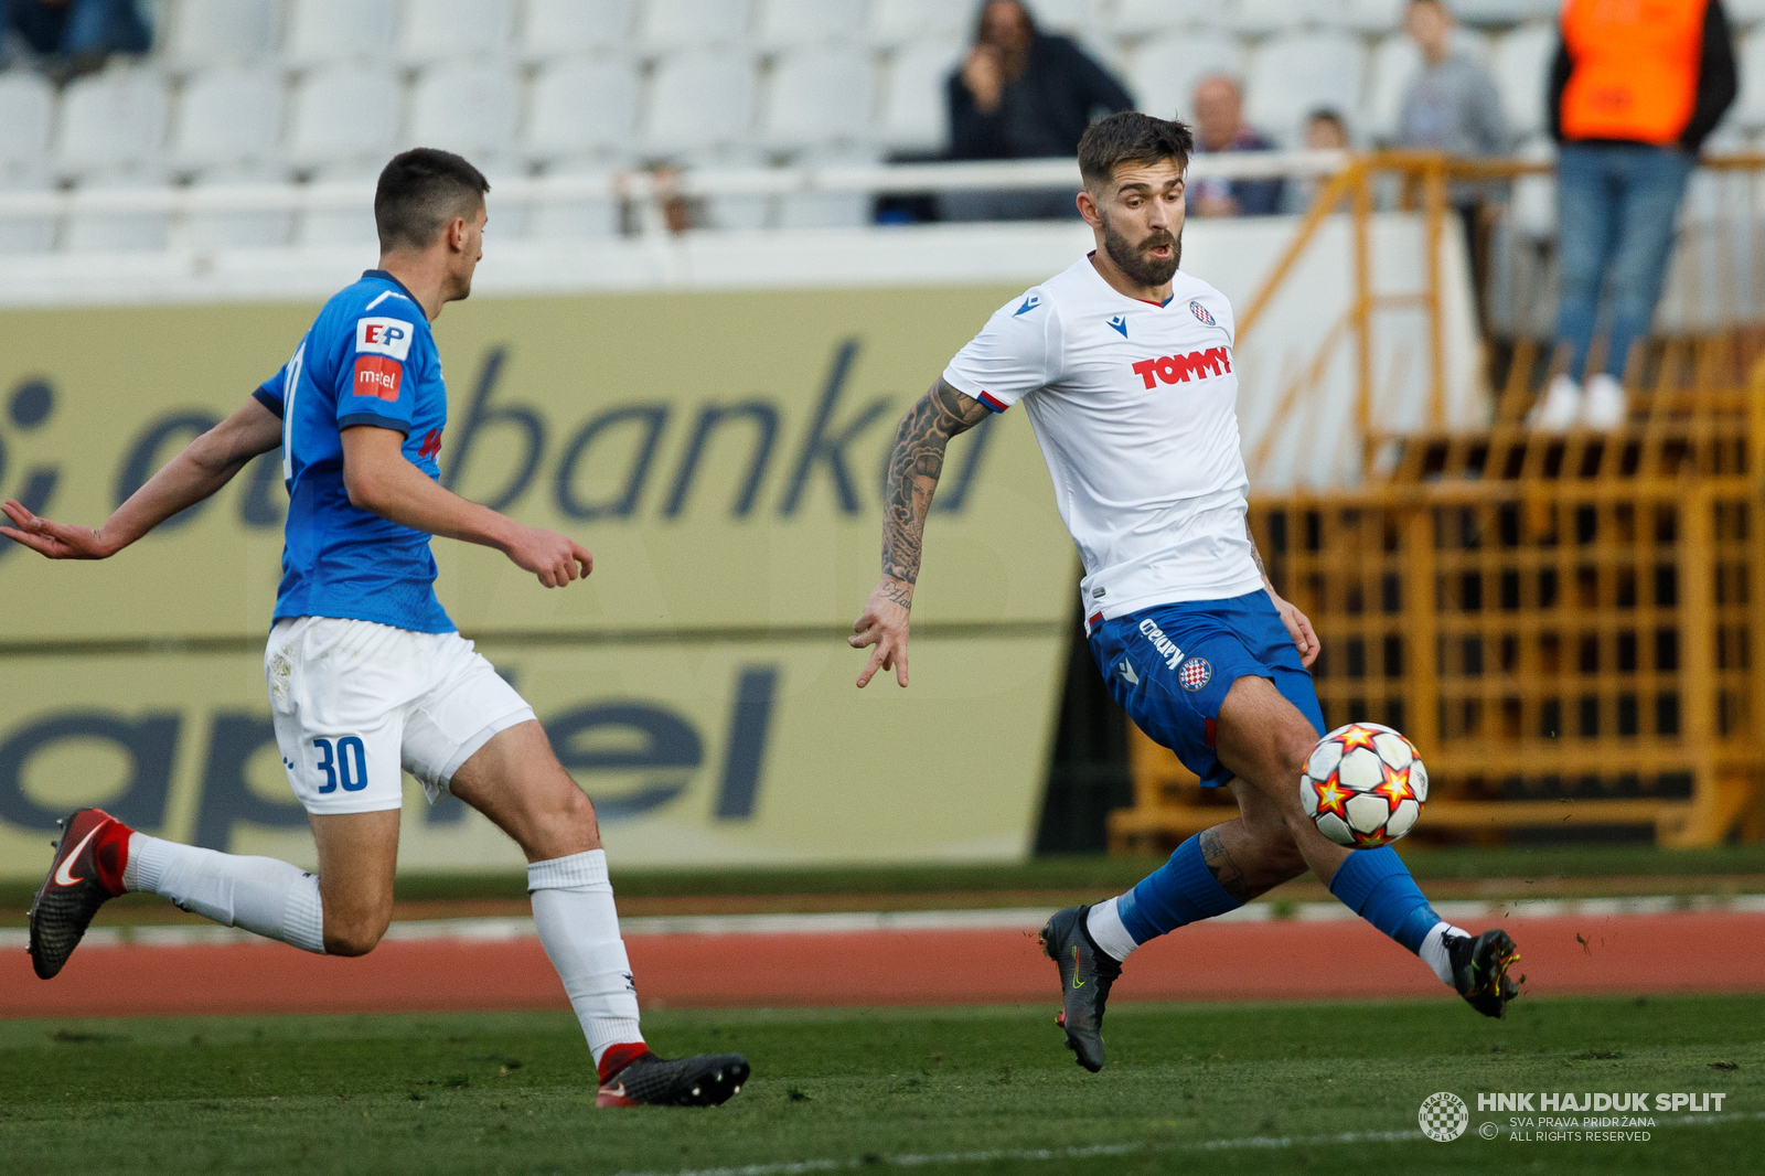
[[[568,1014],[0,1022],[0,1172],[1758,1172],[1765,998],[1119,1005],[1080,1072],[1052,1008],[653,1012],[741,1049],[713,1111],[595,1111]],[[1724,1091],[1647,1142],[1477,1137],[1479,1091]],[[1472,1107],[1416,1134],[1433,1091]],[[1694,1119],[1694,1121],[1693,1121]],[[1396,1137],[1386,1137],[1396,1134]],[[755,1167],[748,1167],[755,1165]]]

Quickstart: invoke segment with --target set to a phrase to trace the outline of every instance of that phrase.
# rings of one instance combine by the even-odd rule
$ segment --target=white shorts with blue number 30
[[[288,782],[307,812],[397,809],[402,772],[434,803],[473,752],[533,719],[457,632],[284,618],[263,675]]]

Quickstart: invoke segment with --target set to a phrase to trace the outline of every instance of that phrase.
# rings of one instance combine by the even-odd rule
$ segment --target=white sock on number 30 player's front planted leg
[[[528,865],[528,895],[540,943],[570,1008],[582,1022],[582,1035],[595,1065],[611,1045],[642,1042],[637,1029],[637,985],[620,938],[620,913],[607,881],[607,851],[588,849],[568,858]]]

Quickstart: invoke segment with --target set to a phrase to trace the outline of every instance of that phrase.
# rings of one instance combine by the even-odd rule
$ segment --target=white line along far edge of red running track
[[[1765,915],[1765,893],[1744,895],[1641,895],[1629,899],[1520,899],[1435,902],[1435,911],[1453,922],[1497,918],[1555,918],[1578,915],[1611,918],[1617,915],[1677,915],[1686,911],[1721,911]],[[980,911],[837,911],[810,915],[650,915],[621,918],[627,938],[642,936],[780,936],[780,934],[851,934],[888,931],[1036,931],[1047,908],[995,908]],[[1347,922],[1356,915],[1340,902],[1250,902],[1216,916],[1213,922],[1264,923]],[[510,915],[498,918],[418,918],[392,923],[387,939],[464,943],[499,943],[531,939],[538,932],[533,918]],[[0,927],[0,950],[21,948],[30,936],[23,927]],[[219,925],[134,925],[94,927],[83,946],[201,946],[222,943],[261,943],[247,931]]]

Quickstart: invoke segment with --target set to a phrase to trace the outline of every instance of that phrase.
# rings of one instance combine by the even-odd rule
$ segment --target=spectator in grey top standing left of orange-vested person
[[[1442,0],[1410,0],[1403,28],[1423,51],[1423,65],[1403,87],[1398,147],[1437,150],[1449,155],[1498,155],[1507,150],[1502,97],[1490,74],[1465,49],[1453,46],[1453,12]],[[1483,203],[1486,184],[1461,180],[1447,200],[1465,226],[1470,281],[1481,304],[1488,270],[1488,235]]]

